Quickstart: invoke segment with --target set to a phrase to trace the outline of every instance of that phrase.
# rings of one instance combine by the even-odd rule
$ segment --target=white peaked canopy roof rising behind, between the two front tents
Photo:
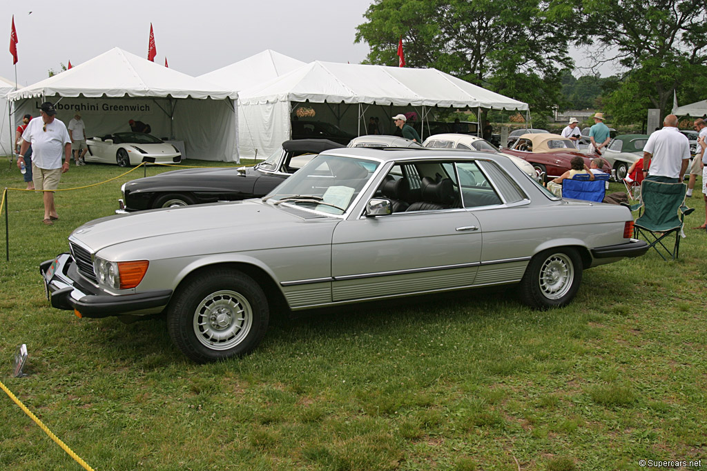
[[[199,78],[226,90],[240,91],[271,81],[303,65],[303,61],[266,49],[230,66],[204,73]]]

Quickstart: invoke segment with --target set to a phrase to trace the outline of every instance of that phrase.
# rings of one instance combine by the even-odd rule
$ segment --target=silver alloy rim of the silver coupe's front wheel
[[[206,296],[194,311],[194,335],[209,350],[228,350],[243,342],[253,325],[253,311],[242,294],[232,290]]]

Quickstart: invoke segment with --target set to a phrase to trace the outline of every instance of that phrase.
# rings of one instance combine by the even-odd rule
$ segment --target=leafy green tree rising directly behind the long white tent
[[[548,112],[561,100],[561,69],[572,66],[573,23],[540,0],[375,0],[356,42],[369,64],[434,67]],[[568,21],[557,21],[565,18]]]

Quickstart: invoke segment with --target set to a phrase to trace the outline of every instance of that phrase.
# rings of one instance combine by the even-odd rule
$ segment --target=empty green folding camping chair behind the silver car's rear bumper
[[[670,255],[677,259],[682,237],[682,225],[686,215],[695,208],[685,205],[684,183],[662,183],[660,181],[643,180],[641,183],[641,200],[628,205],[631,211],[638,210],[638,219],[633,223],[633,237],[643,234],[648,246],[653,247],[663,260]],[[675,243],[668,249],[663,241],[675,234]],[[669,244],[670,245],[670,244]],[[661,252],[665,251],[665,256]]]

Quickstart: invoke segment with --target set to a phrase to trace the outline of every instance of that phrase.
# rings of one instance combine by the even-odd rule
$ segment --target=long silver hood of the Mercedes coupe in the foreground
[[[309,224],[312,222],[312,224]],[[332,229],[322,231],[320,222]],[[87,222],[71,240],[123,260],[250,251],[331,242],[336,217],[275,207],[259,199],[141,211]]]

